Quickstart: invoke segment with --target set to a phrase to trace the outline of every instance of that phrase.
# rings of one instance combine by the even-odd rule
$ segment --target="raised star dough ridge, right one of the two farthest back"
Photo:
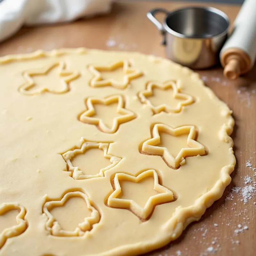
[[[115,78],[103,79],[101,72],[110,71],[113,72],[113,76],[115,76],[114,71],[118,68],[123,68],[124,70],[124,77],[122,82],[116,81]],[[110,66],[90,65],[89,70],[94,75],[90,83],[92,87],[113,86],[118,89],[125,89],[132,79],[143,75],[143,73],[138,69],[132,68],[127,60],[118,61]]]

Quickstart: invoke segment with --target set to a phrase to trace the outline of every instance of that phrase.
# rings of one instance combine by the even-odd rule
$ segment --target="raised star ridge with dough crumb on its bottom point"
[[[161,143],[160,132],[165,132],[171,136],[179,136],[182,134],[188,134],[187,148],[181,148],[176,157],[173,157],[167,148],[157,146]],[[149,155],[162,156],[165,163],[173,168],[177,169],[180,165],[185,164],[185,157],[187,156],[204,156],[205,149],[202,144],[195,140],[196,129],[193,125],[185,125],[178,128],[172,128],[166,124],[155,124],[152,131],[152,138],[146,140],[142,144],[142,153]]]

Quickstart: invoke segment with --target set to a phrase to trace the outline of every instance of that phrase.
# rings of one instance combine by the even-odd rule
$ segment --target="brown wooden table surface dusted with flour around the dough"
[[[81,46],[165,56],[164,47],[160,45],[161,37],[146,18],[146,12],[156,7],[173,10],[185,5],[191,3],[126,1],[114,4],[112,12],[106,16],[72,24],[22,28],[17,35],[0,44],[0,56]],[[236,5],[211,5],[226,12],[231,21],[240,8]],[[244,204],[242,195],[243,189],[255,189],[253,182],[245,184],[246,175],[252,181],[256,180],[252,169],[256,167],[256,66],[236,81],[225,79],[220,67],[199,73],[205,84],[233,110],[236,126],[232,137],[237,164],[231,175],[232,182],[223,197],[206,211],[200,221],[190,224],[179,239],[146,255],[256,255],[256,196],[252,193],[252,198]],[[248,160],[251,168],[246,166]],[[246,187],[248,185],[252,186]],[[231,189],[235,186],[241,188],[238,193]],[[215,252],[210,252],[211,246]]]

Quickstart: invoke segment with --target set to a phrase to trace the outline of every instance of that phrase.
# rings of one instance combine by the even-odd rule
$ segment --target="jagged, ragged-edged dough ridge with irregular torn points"
[[[104,172],[116,166],[122,158],[108,154],[108,147],[110,143],[86,141],[82,138],[82,145],[80,148],[70,149],[62,154],[63,159],[67,163],[67,171],[70,172],[74,180],[84,180],[96,177],[104,177]],[[99,148],[103,151],[104,157],[110,161],[111,164],[101,168],[97,174],[90,174],[90,170],[81,170],[79,166],[73,166],[72,159],[79,154],[86,154],[92,148]],[[88,174],[84,174],[88,173]]]

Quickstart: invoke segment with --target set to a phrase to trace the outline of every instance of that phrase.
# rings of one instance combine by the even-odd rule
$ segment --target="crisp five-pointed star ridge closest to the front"
[[[158,194],[150,196],[144,207],[141,207],[133,200],[117,198],[122,193],[119,180],[139,182],[148,176],[154,179],[154,190],[158,192]],[[174,200],[172,191],[159,184],[158,175],[155,170],[147,170],[140,173],[137,177],[125,173],[116,173],[114,186],[114,191],[108,197],[108,206],[113,208],[129,209],[142,220],[147,220],[150,217],[156,205],[169,203]]]

